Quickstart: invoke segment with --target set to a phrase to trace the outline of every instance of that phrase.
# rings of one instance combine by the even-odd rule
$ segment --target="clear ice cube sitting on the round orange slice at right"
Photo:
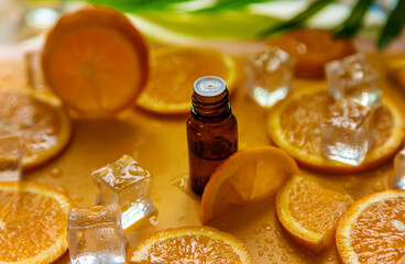
[[[373,108],[340,99],[322,120],[322,154],[329,160],[359,165],[370,147]]]

